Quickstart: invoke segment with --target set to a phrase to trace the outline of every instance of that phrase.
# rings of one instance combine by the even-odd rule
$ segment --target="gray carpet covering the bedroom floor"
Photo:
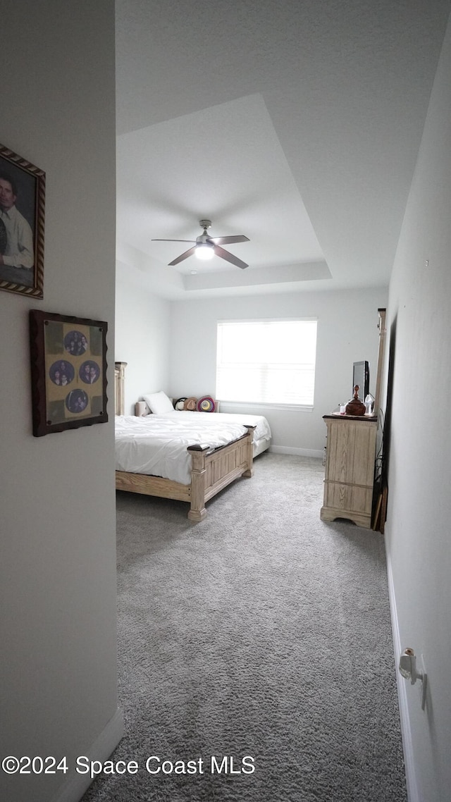
[[[407,799],[383,537],[319,520],[321,460],[254,467],[197,525],[181,502],[118,493],[114,759],[140,770],[83,802]],[[148,774],[151,755],[203,773]]]

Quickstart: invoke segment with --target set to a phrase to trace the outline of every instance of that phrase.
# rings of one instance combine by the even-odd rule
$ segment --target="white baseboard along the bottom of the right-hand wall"
[[[392,563],[388,549],[385,549],[387,559],[387,578],[388,578],[388,598],[390,600],[390,614],[392,617],[393,649],[395,652],[395,665],[398,665],[400,654],[403,650],[400,642],[400,627],[396,612],[396,595],[393,585]],[[415,762],[413,759],[412,732],[410,728],[410,717],[408,715],[407,692],[405,680],[396,670],[396,683],[398,687],[398,700],[400,705],[400,725],[403,740],[405,780],[407,784],[408,802],[421,802],[418,785],[416,783]]]

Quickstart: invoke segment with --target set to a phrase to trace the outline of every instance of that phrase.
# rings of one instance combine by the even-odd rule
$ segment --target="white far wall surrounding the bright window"
[[[169,392],[176,397],[214,395],[218,320],[318,318],[314,411],[270,407],[255,407],[255,411],[261,411],[270,421],[274,448],[319,455],[326,435],[323,415],[351,398],[353,362],[370,362],[370,391],[374,394],[379,345],[377,310],[386,305],[387,292],[380,288],[173,302]],[[238,408],[222,404],[221,410]]]

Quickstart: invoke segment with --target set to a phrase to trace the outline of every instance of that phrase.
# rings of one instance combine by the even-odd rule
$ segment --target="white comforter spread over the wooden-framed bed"
[[[163,476],[190,483],[190,445],[218,448],[246,434],[246,426],[259,419],[259,439],[270,438],[270,428],[259,415],[173,411],[163,415],[116,415],[116,471]],[[237,420],[241,423],[237,423]],[[262,423],[262,422],[266,422]]]

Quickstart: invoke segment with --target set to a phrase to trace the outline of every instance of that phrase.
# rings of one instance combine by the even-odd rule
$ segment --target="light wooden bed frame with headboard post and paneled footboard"
[[[127,363],[115,363],[116,415],[124,415],[124,377]],[[205,518],[205,503],[216,496],[238,476],[253,474],[254,426],[246,426],[247,434],[226,446],[212,449],[209,445],[189,446],[191,483],[180,484],[161,476],[116,471],[116,489],[146,496],[187,501],[189,520]]]

